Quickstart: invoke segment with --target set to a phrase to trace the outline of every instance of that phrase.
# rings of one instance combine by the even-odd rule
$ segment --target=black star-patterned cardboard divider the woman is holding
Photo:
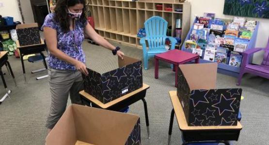
[[[118,57],[119,68],[100,74],[88,69],[88,76],[82,74],[84,90],[103,103],[111,102],[143,86],[142,61],[124,56]]]

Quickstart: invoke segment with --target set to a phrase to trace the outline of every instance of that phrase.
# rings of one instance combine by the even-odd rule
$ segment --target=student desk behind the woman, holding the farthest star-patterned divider
[[[30,55],[30,54],[36,54],[40,53],[40,55],[43,57],[43,61],[45,63],[45,67],[47,69],[47,64],[45,60],[45,56],[42,51],[45,51],[45,43],[41,39],[40,44],[34,44],[34,45],[27,45],[27,46],[20,46],[19,42],[16,41],[17,48],[19,49],[19,55],[20,55],[20,60],[21,60],[21,65],[22,65],[22,72],[24,76],[24,81],[26,83],[26,74],[25,74],[25,68],[24,68],[24,62],[23,62],[23,56]]]

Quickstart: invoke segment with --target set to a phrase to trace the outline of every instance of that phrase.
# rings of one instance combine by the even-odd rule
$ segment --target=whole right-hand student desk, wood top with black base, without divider
[[[182,131],[183,140],[186,141],[182,145],[199,142],[214,142],[224,143],[230,145],[228,141],[237,141],[239,133],[242,130],[240,122],[237,122],[237,126],[188,126],[187,120],[184,115],[181,103],[177,97],[176,91],[169,92],[174,109],[171,112],[170,125],[169,125],[169,138],[170,143],[174,114],[176,116],[179,129]]]

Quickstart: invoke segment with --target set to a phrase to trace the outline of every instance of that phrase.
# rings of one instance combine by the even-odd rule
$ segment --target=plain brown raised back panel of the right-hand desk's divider
[[[184,74],[190,90],[216,88],[217,68],[217,63],[179,65],[179,69]]]

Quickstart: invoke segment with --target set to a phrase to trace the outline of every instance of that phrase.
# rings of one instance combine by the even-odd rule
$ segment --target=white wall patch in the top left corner
[[[12,16],[14,21],[22,22],[17,0],[0,0],[0,3],[3,4],[3,7],[0,7],[2,16]]]

